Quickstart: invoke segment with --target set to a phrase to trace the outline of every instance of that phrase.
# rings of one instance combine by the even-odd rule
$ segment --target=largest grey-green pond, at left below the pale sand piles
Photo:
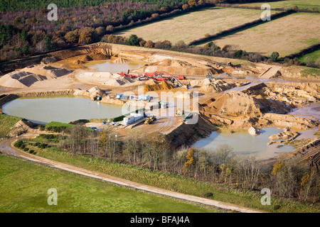
[[[79,96],[19,98],[4,104],[2,111],[33,123],[68,123],[78,119],[114,118],[128,113],[127,110],[122,110],[122,106],[102,104]]]

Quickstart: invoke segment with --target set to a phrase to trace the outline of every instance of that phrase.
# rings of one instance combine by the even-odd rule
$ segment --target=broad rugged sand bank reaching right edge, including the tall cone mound
[[[299,106],[320,101],[319,84],[257,84],[207,99],[199,105],[212,123],[230,128],[280,127],[306,130],[319,125],[309,118],[287,113]]]

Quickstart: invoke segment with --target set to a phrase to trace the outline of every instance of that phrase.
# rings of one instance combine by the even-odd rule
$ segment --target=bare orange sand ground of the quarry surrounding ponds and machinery
[[[184,126],[178,122],[179,118],[159,118],[159,123],[153,127],[139,126],[147,133],[156,131],[182,133],[196,130],[201,131],[203,135],[209,135],[210,131],[216,130],[210,124],[230,129],[289,126],[292,131],[306,130],[319,125],[317,119],[290,116],[287,113],[294,108],[319,102],[320,83],[304,82],[297,78],[295,81],[287,82],[283,80],[286,78],[284,74],[279,73],[280,70],[262,82],[259,76],[267,70],[272,71],[270,65],[255,65],[239,60],[235,62],[237,67],[231,67],[225,65],[228,59],[213,60],[212,57],[199,57],[180,52],[102,43],[74,50],[61,50],[50,55],[38,65],[26,65],[0,77],[0,95],[21,94],[21,92],[52,94],[55,91],[68,89],[68,94],[71,92],[73,95],[90,96],[91,99],[102,96],[102,102],[119,105],[130,104],[129,101],[115,99],[116,94],[124,92],[160,94],[169,91],[174,92],[175,99],[197,98],[197,102],[191,106],[198,106],[196,114],[200,114],[203,121],[198,121],[193,126]],[[130,74],[143,75],[146,72],[168,72],[175,76],[183,74],[186,79],[181,80],[181,83],[188,84],[189,89],[178,87],[176,83],[170,81],[159,82],[144,77],[138,80],[122,77],[120,72],[97,72],[85,67],[86,62],[95,60],[106,60],[118,65],[129,62],[143,65],[131,70]],[[282,68],[281,72],[285,70],[287,69]],[[125,68],[122,71],[127,72]],[[229,75],[219,79],[207,78],[207,75],[214,78],[223,72],[228,72]],[[272,77],[282,77],[282,80],[278,81]],[[182,94],[176,95],[175,92]],[[193,92],[198,94],[194,96]],[[148,101],[142,101],[142,106],[146,107],[147,103]],[[174,108],[174,105],[169,108]],[[155,113],[149,111],[149,114]],[[125,135],[127,130],[122,129],[119,135]],[[176,140],[176,145],[182,145],[187,141],[191,143],[198,139],[191,134],[186,136],[186,140]]]

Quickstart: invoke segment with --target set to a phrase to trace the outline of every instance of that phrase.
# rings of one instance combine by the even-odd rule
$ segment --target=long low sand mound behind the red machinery
[[[217,69],[210,65],[203,65],[196,61],[180,61],[165,59],[160,62],[154,62],[150,65],[144,65],[132,72],[155,72],[164,71],[172,74],[186,74],[186,75],[203,75],[203,74],[218,74]],[[220,71],[220,70],[219,70]]]

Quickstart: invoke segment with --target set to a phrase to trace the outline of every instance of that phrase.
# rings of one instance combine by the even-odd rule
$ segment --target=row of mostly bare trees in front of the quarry
[[[119,138],[112,127],[100,133],[70,128],[59,148],[74,155],[92,155],[174,175],[226,184],[236,189],[261,190],[302,201],[319,201],[320,176],[314,167],[294,159],[266,163],[255,155],[237,155],[229,145],[215,150],[172,148],[166,135],[129,131]]]

